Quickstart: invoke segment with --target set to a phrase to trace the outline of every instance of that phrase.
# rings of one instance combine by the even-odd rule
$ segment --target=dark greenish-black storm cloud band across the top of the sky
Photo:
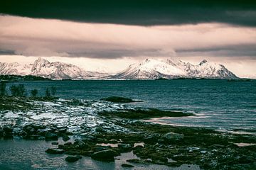
[[[256,26],[255,0],[1,0],[0,13],[142,26],[208,22]]]

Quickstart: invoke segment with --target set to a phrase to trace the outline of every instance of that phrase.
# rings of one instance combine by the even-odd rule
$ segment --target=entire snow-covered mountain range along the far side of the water
[[[129,65],[117,74],[89,72],[73,64],[49,62],[39,57],[32,64],[0,62],[1,75],[33,75],[49,79],[238,79],[222,64],[203,60],[199,64],[181,60],[152,60]]]

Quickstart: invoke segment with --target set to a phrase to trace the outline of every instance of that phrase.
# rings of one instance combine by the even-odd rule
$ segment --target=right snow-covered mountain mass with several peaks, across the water
[[[181,60],[152,60],[131,64],[123,72],[115,74],[110,79],[238,79],[222,64],[203,60],[199,64],[185,63]]]

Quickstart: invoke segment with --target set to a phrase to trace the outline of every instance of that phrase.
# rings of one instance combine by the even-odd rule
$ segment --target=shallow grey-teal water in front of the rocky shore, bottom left
[[[59,140],[61,142],[61,140]],[[82,157],[78,162],[65,162],[65,154],[46,154],[48,147],[55,147],[51,142],[33,140],[0,140],[0,169],[99,169],[114,170],[122,168],[127,159],[137,158],[132,152],[121,154],[114,162],[99,162],[90,157]],[[183,164],[178,168],[164,165],[142,165],[132,164],[134,169],[199,169],[197,165]]]

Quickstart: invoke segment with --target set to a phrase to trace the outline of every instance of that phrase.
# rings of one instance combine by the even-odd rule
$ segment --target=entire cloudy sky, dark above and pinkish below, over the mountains
[[[118,72],[175,57],[256,78],[256,1],[2,0],[0,13],[0,62],[44,57]]]

